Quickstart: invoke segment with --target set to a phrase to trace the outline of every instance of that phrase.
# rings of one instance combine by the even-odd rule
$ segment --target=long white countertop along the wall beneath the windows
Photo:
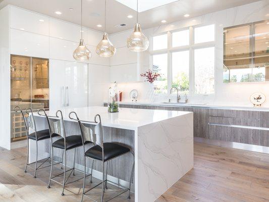
[[[106,102],[104,102],[106,104]],[[269,112],[266,107],[253,107],[252,104],[248,105],[210,105],[206,103],[147,103],[147,102],[120,102],[120,105],[147,105],[147,106],[166,106],[166,107],[196,107],[208,109],[226,109],[226,110],[248,110],[248,111],[264,111]]]

